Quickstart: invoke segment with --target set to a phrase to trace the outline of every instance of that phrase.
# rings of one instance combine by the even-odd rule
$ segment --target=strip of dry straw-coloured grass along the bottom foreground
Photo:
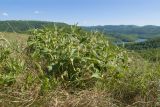
[[[159,107],[158,103],[145,102],[142,98],[130,105],[124,104],[105,91],[83,90],[70,93],[63,89],[40,95],[38,86],[34,90],[0,93],[1,107]]]

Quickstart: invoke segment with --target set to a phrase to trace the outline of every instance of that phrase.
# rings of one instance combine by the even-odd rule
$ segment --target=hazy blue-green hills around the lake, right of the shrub
[[[160,26],[105,25],[83,27],[91,31],[100,31],[119,40],[130,42],[139,38],[151,39],[160,36]]]

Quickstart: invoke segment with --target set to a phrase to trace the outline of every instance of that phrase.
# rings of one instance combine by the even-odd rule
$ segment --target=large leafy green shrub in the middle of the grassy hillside
[[[110,45],[102,34],[76,26],[35,30],[27,50],[47,75],[67,87],[93,87],[103,79],[111,83],[127,69],[126,51]]]

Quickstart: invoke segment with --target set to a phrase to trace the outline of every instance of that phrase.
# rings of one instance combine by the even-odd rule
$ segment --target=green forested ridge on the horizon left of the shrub
[[[47,21],[22,21],[10,20],[0,21],[0,32],[26,32],[33,28],[42,28],[43,26],[66,26],[65,23],[47,22]]]

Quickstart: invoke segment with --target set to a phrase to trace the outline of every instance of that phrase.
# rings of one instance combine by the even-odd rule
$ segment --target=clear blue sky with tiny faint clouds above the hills
[[[0,20],[160,25],[160,0],[0,0]]]

